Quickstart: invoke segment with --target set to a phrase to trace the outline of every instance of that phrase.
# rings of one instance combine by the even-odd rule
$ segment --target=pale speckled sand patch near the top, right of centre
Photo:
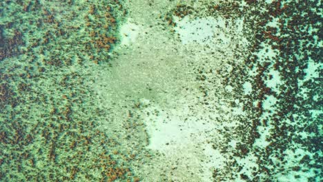
[[[183,19],[179,17],[173,17],[173,19],[177,23],[175,31],[179,34],[183,44],[199,43],[212,45],[222,50],[232,47],[237,42],[241,45],[248,45],[247,39],[243,37],[244,19],[229,21],[221,16],[195,19],[186,16]],[[239,37],[238,41],[237,37]]]

